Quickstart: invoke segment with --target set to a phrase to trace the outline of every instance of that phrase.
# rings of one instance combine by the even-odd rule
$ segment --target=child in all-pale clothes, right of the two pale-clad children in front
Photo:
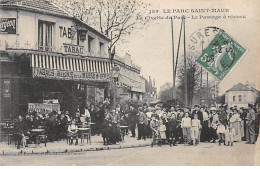
[[[198,115],[194,114],[194,119],[191,121],[191,138],[193,140],[193,145],[196,146],[199,140],[199,131],[201,129],[200,120]]]

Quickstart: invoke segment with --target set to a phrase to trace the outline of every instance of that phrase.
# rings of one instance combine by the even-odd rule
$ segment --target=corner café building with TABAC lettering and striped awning
[[[88,89],[109,97],[109,39],[47,1],[0,3],[0,118],[84,111]]]

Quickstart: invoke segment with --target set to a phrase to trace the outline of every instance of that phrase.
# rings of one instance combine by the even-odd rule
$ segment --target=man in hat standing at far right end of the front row
[[[253,105],[248,104],[248,113],[246,117],[246,127],[247,127],[247,143],[255,144],[255,111],[253,110]]]

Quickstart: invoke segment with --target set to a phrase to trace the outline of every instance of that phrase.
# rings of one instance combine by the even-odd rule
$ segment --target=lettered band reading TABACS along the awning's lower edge
[[[57,80],[75,80],[75,81],[99,81],[108,82],[111,79],[110,73],[82,72],[70,70],[56,70],[46,68],[33,68],[34,78],[46,78]]]

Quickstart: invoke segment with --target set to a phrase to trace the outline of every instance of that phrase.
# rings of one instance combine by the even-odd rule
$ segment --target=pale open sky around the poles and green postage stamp
[[[235,65],[228,76],[220,82],[220,94],[231,88],[233,85],[241,83],[251,83],[255,88],[260,90],[260,57],[259,41],[259,16],[260,10],[255,5],[257,1],[242,1],[242,0],[212,0],[206,2],[204,0],[173,0],[160,1],[146,0],[150,2],[152,8],[158,10],[158,13],[153,13],[146,16],[166,17],[168,16],[182,16],[183,13],[177,9],[189,10],[184,13],[185,16],[190,17],[186,19],[186,52],[189,52],[188,45],[191,43],[191,35],[201,28],[214,26],[225,30],[225,32],[235,39],[240,45],[248,51],[243,58]],[[202,2],[202,3],[201,3]],[[175,13],[163,13],[163,10],[170,9]],[[192,9],[225,9],[225,12],[203,12],[192,13]],[[227,12],[227,10],[229,12]],[[149,11],[147,11],[149,12]],[[219,19],[191,19],[193,17],[201,16],[220,16]],[[223,16],[245,16],[245,18],[223,19]],[[144,16],[145,18],[145,16]],[[180,19],[174,19],[174,43],[175,52],[177,50],[179,31],[181,25]],[[140,29],[138,33],[133,33],[130,36],[128,43],[120,45],[120,52],[128,52],[135,64],[141,67],[141,75],[148,78],[151,76],[156,81],[156,87],[166,82],[172,83],[172,36],[171,36],[171,22],[169,19],[149,20],[149,26],[146,29]],[[210,39],[209,39],[210,40]],[[208,41],[209,41],[208,40]],[[183,38],[181,39],[183,42]],[[205,44],[206,45],[206,44]],[[201,45],[196,46],[196,51],[200,52]],[[180,46],[180,57],[183,55],[183,43]],[[176,56],[176,53],[175,53]],[[203,76],[206,79],[206,76]],[[216,80],[211,75],[209,77]],[[159,91],[158,91],[159,92]]]

